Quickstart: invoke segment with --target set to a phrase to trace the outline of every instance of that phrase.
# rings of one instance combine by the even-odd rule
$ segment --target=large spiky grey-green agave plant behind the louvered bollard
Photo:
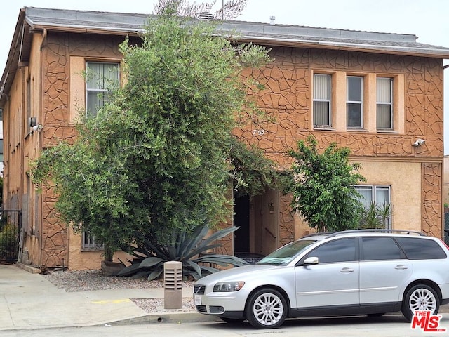
[[[147,277],[151,281],[161,275],[163,263],[168,261],[182,262],[182,275],[191,275],[194,279],[217,272],[218,269],[212,265],[222,267],[248,265],[245,260],[236,256],[208,252],[222,246],[214,244],[215,240],[225,237],[237,229],[239,227],[228,227],[206,237],[209,228],[204,224],[196,227],[192,233],[187,234],[182,231],[175,234],[171,244],[158,244],[156,240],[142,237],[143,244],[133,247],[131,265],[124,267],[117,276]]]

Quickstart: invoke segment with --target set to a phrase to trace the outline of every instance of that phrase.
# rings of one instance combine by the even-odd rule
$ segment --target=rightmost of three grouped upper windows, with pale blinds
[[[393,79],[389,77],[377,77],[376,105],[377,128],[393,128]]]

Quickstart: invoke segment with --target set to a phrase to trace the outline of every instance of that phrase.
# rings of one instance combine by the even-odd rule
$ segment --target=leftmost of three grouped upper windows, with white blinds
[[[314,127],[330,128],[330,75],[314,74]]]

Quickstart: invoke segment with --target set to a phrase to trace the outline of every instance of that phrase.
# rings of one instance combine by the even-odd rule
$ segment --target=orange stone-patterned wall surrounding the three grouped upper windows
[[[442,163],[443,163],[443,70],[442,62],[433,58],[356,53],[351,51],[323,51],[299,48],[272,48],[271,62],[264,69],[252,69],[252,75],[264,84],[256,94],[257,106],[274,121],[242,126],[235,131],[248,144],[255,144],[267,157],[279,163],[280,169],[290,167],[286,156],[290,148],[297,148],[298,140],[313,133],[321,149],[330,142],[351,149],[351,159],[374,161],[408,160],[422,162],[422,230],[441,236]],[[311,70],[319,72],[351,71],[351,74],[403,74],[404,132],[335,132],[311,129]],[[337,118],[339,113],[337,112]],[[263,129],[262,136],[253,130]],[[417,138],[426,140],[425,147],[411,146]],[[360,159],[358,159],[360,158]],[[369,183],[369,182],[368,182]],[[400,211],[400,210],[399,210]],[[281,216],[281,241],[288,241]],[[284,228],[284,229],[283,229]]]

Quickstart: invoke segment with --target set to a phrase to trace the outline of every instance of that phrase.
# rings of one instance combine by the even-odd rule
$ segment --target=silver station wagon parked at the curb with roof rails
[[[401,230],[311,234],[255,265],[194,284],[196,310],[257,329],[289,317],[438,313],[449,303],[449,250],[441,239]]]

